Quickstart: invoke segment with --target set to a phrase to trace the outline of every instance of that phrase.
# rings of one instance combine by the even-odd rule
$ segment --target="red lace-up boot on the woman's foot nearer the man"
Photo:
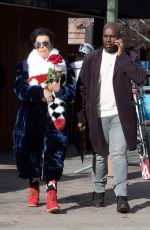
[[[50,190],[46,193],[46,208],[47,212],[58,213],[60,207],[57,201],[57,192],[56,190]]]

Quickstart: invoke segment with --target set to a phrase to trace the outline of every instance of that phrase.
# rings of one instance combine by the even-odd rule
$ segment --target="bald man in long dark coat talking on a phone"
[[[130,211],[127,195],[127,147],[136,149],[136,109],[132,83],[146,77],[138,55],[125,52],[117,23],[103,29],[103,47],[87,55],[79,75],[75,113],[79,130],[87,126],[93,155],[93,204],[104,206],[107,157],[112,158],[117,211]]]

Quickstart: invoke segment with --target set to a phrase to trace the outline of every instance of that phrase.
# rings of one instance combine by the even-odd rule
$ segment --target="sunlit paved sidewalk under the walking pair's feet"
[[[84,166],[92,156],[85,157]],[[106,187],[106,207],[92,206],[91,169],[80,169],[80,156],[70,145],[65,160],[64,174],[58,183],[60,214],[49,214],[45,208],[45,184],[41,183],[40,206],[27,207],[28,181],[16,176],[10,153],[0,153],[0,229],[7,230],[147,230],[150,227],[150,181],[141,179],[136,152],[128,154],[129,203],[131,213],[116,212],[112,178]]]

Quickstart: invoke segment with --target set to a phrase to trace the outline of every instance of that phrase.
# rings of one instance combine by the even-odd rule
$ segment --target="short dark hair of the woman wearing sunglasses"
[[[50,42],[53,45],[55,45],[55,34],[52,31],[50,31],[46,28],[43,28],[43,27],[36,28],[32,31],[32,33],[30,35],[30,40],[31,40],[32,44],[35,43],[37,36],[42,36],[42,35],[48,36]]]

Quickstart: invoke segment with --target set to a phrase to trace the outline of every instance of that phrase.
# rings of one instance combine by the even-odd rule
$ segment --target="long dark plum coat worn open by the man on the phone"
[[[77,122],[87,123],[92,150],[96,153],[103,151],[105,143],[96,110],[96,89],[100,75],[101,60],[102,48],[95,50],[85,57],[75,96]],[[129,150],[136,149],[137,138],[136,108],[132,94],[131,80],[137,84],[141,84],[145,78],[146,73],[139,65],[139,58],[136,53],[130,52],[127,54],[124,52],[120,56],[117,56],[113,74],[113,88],[121,125]]]

